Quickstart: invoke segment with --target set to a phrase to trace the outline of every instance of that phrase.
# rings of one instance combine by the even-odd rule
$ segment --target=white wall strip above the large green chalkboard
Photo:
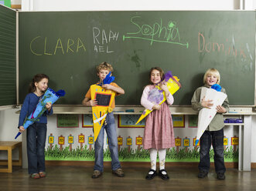
[[[23,2],[29,2],[32,9],[23,7]],[[238,3],[237,3],[238,2]],[[28,5],[26,3],[26,5]],[[29,7],[28,7],[29,8]],[[31,7],[30,7],[31,8]],[[109,1],[84,1],[84,0],[22,0],[22,10],[33,11],[91,11],[91,10],[233,10],[239,8],[239,1],[234,0],[109,0]]]

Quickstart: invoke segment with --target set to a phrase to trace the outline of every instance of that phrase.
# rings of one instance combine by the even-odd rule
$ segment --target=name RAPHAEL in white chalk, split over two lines
[[[111,50],[108,46],[111,41],[118,41],[119,32],[113,32],[109,30],[106,32],[104,29],[100,29],[97,27],[93,28],[93,36],[94,36],[94,51],[95,52],[106,52],[111,53],[114,50]]]

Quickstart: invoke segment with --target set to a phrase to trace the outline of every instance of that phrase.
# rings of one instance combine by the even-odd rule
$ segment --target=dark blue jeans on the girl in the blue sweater
[[[27,129],[27,152],[29,162],[29,174],[45,172],[44,148],[46,146],[45,123],[33,123]]]

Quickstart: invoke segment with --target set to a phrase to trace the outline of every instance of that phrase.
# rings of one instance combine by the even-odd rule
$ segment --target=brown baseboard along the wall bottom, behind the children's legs
[[[256,167],[256,163],[255,167]],[[60,160],[46,160],[46,166],[85,166],[93,167],[94,161],[60,161]],[[104,162],[104,166],[111,166],[111,162]],[[123,167],[148,167],[150,162],[121,162]],[[198,166],[198,162],[167,162],[166,166]],[[210,163],[210,166],[214,166],[214,163]],[[238,168],[238,163],[225,163],[226,168]]]

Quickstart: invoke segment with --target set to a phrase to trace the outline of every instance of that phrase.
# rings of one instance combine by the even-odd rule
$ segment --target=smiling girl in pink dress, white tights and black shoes
[[[145,109],[154,109],[148,114],[145,121],[143,147],[149,149],[151,161],[151,169],[145,179],[153,179],[157,175],[157,152],[159,152],[159,176],[165,180],[169,179],[165,169],[166,149],[175,146],[172,116],[168,106],[172,105],[173,97],[167,88],[166,82],[162,82],[163,75],[164,72],[159,67],[150,70],[151,85],[145,86],[141,99],[141,104]],[[155,85],[159,85],[166,94],[166,102],[161,105],[159,105],[159,100],[162,99],[162,93],[161,90],[155,88]]]

